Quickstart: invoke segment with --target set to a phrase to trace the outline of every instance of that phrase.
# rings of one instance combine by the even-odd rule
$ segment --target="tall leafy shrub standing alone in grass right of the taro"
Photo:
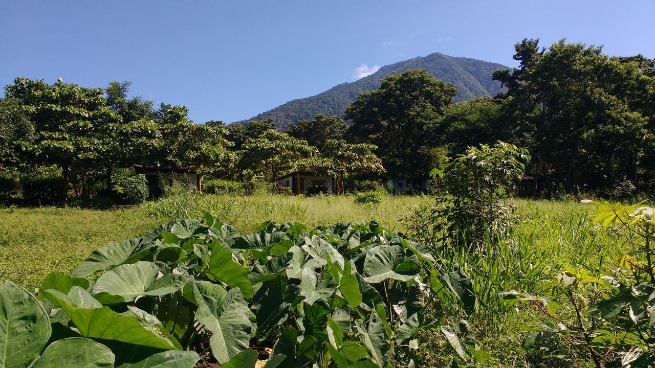
[[[528,160],[526,149],[498,141],[493,146],[470,147],[444,170],[432,170],[430,175],[440,179],[446,193],[437,196],[429,211],[421,209],[426,216],[423,225],[434,226],[428,234],[441,234],[441,241],[466,242],[472,248],[480,248],[487,236],[492,240],[506,236],[514,208],[504,199],[515,192]]]

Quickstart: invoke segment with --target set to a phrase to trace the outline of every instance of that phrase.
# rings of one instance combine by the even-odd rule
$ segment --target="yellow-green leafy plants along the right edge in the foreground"
[[[565,267],[547,284],[550,297],[504,291],[510,303],[531,304],[546,321],[523,347],[548,356],[544,340],[559,337],[595,367],[653,367],[655,362],[655,219],[653,208],[583,200],[597,206],[594,223],[633,246],[612,272]]]

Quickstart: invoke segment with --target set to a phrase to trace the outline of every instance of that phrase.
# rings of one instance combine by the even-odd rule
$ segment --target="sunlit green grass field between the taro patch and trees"
[[[69,272],[92,249],[118,240],[138,237],[174,218],[202,216],[209,210],[237,227],[252,232],[269,219],[299,221],[310,227],[335,222],[375,219],[390,229],[404,231],[402,218],[411,207],[430,204],[429,196],[384,196],[379,205],[354,203],[352,196],[195,196],[184,194],[147,202],[126,210],[78,208],[8,208],[0,210],[0,274],[28,288],[37,287],[52,270]],[[514,200],[517,226],[510,240],[484,255],[443,248],[436,254],[440,267],[457,261],[472,278],[479,310],[466,316],[479,344],[493,358],[489,367],[587,367],[571,347],[554,344],[552,355],[569,356],[541,361],[521,349],[521,337],[540,317],[529,308],[504,303],[498,292],[530,290],[547,293],[544,282],[563,267],[609,271],[631,249],[615,234],[590,221],[592,208],[575,201]],[[462,316],[446,316],[457,321]],[[439,329],[428,332],[426,356],[432,366],[444,366],[453,350]],[[575,356],[575,354],[573,354]],[[553,363],[554,359],[554,363]],[[425,363],[423,366],[426,366]]]

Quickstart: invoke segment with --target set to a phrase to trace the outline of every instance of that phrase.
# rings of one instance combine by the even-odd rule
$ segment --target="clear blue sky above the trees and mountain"
[[[515,66],[524,37],[655,58],[654,14],[655,1],[0,0],[0,83],[128,80],[195,122],[233,122],[354,81],[362,64],[443,52]]]

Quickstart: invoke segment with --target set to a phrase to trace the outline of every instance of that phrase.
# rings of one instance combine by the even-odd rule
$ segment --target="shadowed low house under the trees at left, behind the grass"
[[[150,197],[156,198],[161,196],[165,187],[170,187],[174,183],[185,185],[189,191],[200,191],[202,189],[202,175],[192,168],[155,168],[147,166],[135,166],[137,174],[144,174],[148,182]]]

